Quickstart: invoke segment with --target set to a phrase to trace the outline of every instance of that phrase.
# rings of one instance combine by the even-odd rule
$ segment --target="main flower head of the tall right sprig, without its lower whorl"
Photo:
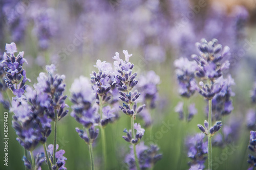
[[[212,39],[209,42],[202,39],[201,43],[198,42],[196,45],[199,49],[200,56],[191,56],[198,63],[196,75],[201,79],[209,80],[210,84],[200,82],[201,89],[199,89],[196,84],[194,88],[196,88],[204,98],[211,100],[225,85],[222,71],[228,69],[230,64],[228,61],[223,63],[220,63],[220,61],[229,54],[229,47],[225,46],[221,52],[222,46],[218,44],[217,39]]]

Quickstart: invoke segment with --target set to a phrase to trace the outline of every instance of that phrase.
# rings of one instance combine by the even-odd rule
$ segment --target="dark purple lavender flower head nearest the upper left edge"
[[[5,64],[4,70],[6,72],[5,83],[9,89],[12,90],[13,94],[16,95],[14,99],[22,100],[23,94],[27,85],[26,81],[30,81],[26,77],[26,71],[23,69],[23,63],[27,62],[23,58],[24,52],[19,52],[17,56],[14,54],[17,52],[17,47],[14,42],[6,44],[6,53],[4,53]],[[9,56],[7,54],[10,54]]]

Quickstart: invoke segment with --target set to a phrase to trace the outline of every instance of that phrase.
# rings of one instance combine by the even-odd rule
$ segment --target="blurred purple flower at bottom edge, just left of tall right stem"
[[[197,133],[195,136],[191,136],[187,138],[187,148],[188,153],[187,156],[191,159],[188,162],[191,169],[198,167],[198,169],[204,169],[204,162],[207,159],[205,154],[208,153],[208,142],[204,141],[204,134]]]

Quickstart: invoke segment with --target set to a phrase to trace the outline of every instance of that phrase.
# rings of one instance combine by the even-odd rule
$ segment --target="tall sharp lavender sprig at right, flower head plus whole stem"
[[[194,84],[194,88],[208,100],[208,122],[205,121],[205,128],[198,125],[199,129],[208,136],[208,168],[212,169],[211,158],[211,137],[221,128],[222,123],[217,122],[214,127],[211,127],[212,121],[212,99],[221,92],[225,86],[225,81],[222,72],[229,68],[228,60],[221,60],[228,55],[229,47],[225,46],[222,51],[222,45],[218,44],[217,39],[212,39],[207,42],[205,39],[201,43],[196,43],[199,49],[200,56],[192,55],[191,57],[198,63],[196,76],[205,80],[199,82],[201,88]],[[221,52],[222,51],[222,52]]]

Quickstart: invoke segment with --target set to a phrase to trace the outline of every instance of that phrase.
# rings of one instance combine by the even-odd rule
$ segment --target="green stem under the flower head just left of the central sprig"
[[[100,118],[102,119],[102,96],[99,96],[99,113]],[[101,131],[101,142],[102,142],[102,153],[103,153],[103,167],[106,169],[107,167],[107,159],[106,159],[106,138],[105,138],[105,130],[100,125],[100,131]]]

